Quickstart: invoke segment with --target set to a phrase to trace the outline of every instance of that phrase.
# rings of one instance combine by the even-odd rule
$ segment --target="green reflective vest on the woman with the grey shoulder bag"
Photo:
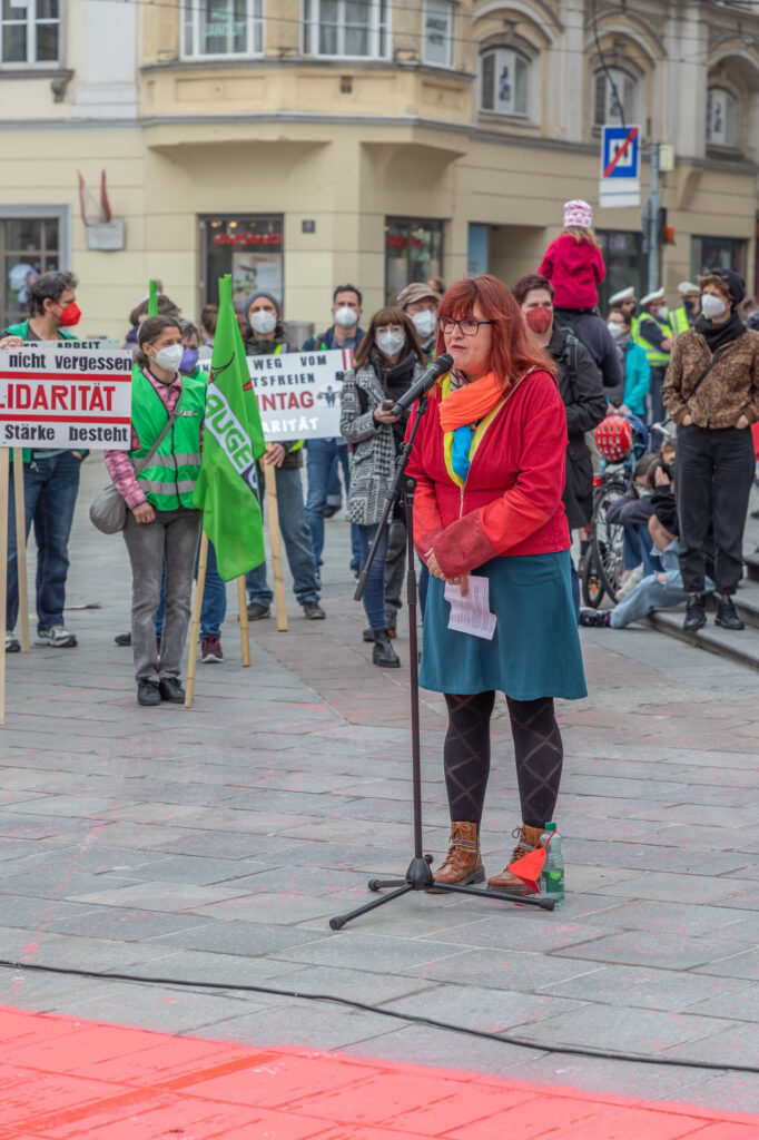
[[[162,439],[149,465],[137,477],[146,499],[156,511],[193,506],[193,491],[201,471],[201,424],[205,416],[205,380],[182,376],[173,426]],[[134,365],[132,424],[140,447],[137,451],[130,451],[132,461],[147,455],[168,418],[163,400],[139,365]]]

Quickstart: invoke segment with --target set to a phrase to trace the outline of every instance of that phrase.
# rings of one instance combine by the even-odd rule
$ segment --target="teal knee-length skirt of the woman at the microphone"
[[[498,690],[517,701],[587,697],[570,552],[491,559],[475,573],[490,580],[492,641],[449,629],[446,584],[430,578],[422,687],[439,693]]]

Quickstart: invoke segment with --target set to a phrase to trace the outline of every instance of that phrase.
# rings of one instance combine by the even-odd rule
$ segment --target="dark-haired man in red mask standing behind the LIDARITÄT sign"
[[[68,332],[77,325],[76,278],[64,270],[42,274],[30,283],[28,319],[0,333],[0,348],[40,341],[76,340]],[[34,523],[36,538],[36,638],[35,645],[72,649],[76,636],[66,629],[66,577],[68,536],[79,494],[82,459],[87,451],[63,448],[24,449],[24,513],[26,536]],[[13,481],[8,499],[8,578],[6,588],[6,652],[21,649],[14,635],[18,617],[18,569],[16,557],[16,511]]]

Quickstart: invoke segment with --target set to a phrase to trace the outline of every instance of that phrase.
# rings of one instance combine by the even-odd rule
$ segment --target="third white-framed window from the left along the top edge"
[[[390,0],[303,0],[303,51],[310,56],[387,55]]]

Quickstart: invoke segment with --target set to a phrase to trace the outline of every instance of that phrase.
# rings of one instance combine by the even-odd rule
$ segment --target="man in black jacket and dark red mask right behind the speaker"
[[[558,365],[556,382],[564,401],[568,435],[563,503],[570,529],[587,527],[593,513],[593,461],[585,433],[601,423],[609,402],[601,373],[579,337],[554,321],[554,290],[546,277],[520,277],[512,292],[536,341]],[[580,587],[574,567],[572,588],[579,613]]]

